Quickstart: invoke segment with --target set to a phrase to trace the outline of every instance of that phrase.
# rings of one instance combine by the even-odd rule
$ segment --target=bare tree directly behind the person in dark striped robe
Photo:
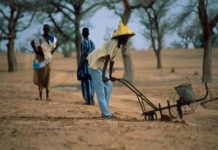
[[[48,17],[53,22],[57,31],[67,40],[72,40],[75,44],[77,52],[77,63],[80,60],[80,26],[81,20],[88,15],[93,15],[94,12],[103,4],[103,0],[88,1],[88,0],[56,0],[48,1],[49,8],[52,11],[46,9]],[[68,23],[63,24],[62,21],[57,22],[53,15],[61,15],[68,20]],[[65,32],[63,25],[68,26],[68,30],[71,32]],[[71,34],[73,32],[73,34]]]

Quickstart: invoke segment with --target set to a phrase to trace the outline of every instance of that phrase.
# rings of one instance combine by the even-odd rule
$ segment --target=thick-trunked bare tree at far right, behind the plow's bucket
[[[218,22],[218,11],[216,0],[194,0],[189,1],[182,13],[178,17],[178,24],[182,24],[191,15],[195,15],[200,23],[202,41],[203,41],[203,66],[202,66],[202,82],[208,83],[212,80],[212,37],[213,29],[216,28]]]

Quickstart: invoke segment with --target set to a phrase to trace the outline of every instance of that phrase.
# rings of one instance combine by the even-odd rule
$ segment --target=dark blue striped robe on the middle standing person
[[[85,74],[85,78],[81,79],[82,95],[86,104],[94,104],[94,85],[88,70],[88,61],[86,57],[95,49],[94,43],[90,39],[84,39],[81,42],[81,59],[79,67]]]

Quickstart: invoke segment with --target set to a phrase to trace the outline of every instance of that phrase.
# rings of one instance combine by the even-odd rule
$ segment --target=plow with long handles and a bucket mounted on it
[[[118,82],[122,83],[123,85],[125,85],[126,87],[128,87],[133,93],[135,93],[135,95],[138,98],[138,102],[139,105],[141,107],[142,110],[142,115],[144,116],[145,120],[157,120],[157,114],[159,113],[160,115],[160,119],[161,120],[165,120],[166,116],[172,120],[174,118],[176,118],[175,116],[175,109],[177,111],[177,113],[179,114],[179,110],[178,110],[178,100],[174,101],[173,103],[170,103],[169,100],[167,100],[167,105],[162,107],[161,104],[159,103],[158,106],[156,106],[155,104],[153,104],[147,97],[145,97],[133,84],[131,84],[129,81],[122,79],[122,78],[117,78],[116,79]],[[184,88],[185,87],[185,88]],[[187,92],[187,88],[188,87],[188,91]],[[200,98],[200,99],[194,99],[194,96],[192,95],[190,97],[190,94],[193,94],[192,92],[192,87],[191,84],[182,84],[179,85],[177,87],[175,87],[175,90],[179,96],[179,98],[182,100],[181,106],[193,106],[192,110],[194,111],[196,108],[194,107],[194,104],[196,104],[197,102],[203,102],[204,100],[206,100],[206,98],[208,97],[208,94],[210,92],[207,84],[205,84],[205,90],[206,93],[204,95],[204,97]],[[189,93],[189,94],[187,94]],[[217,99],[217,98],[216,98]],[[210,100],[211,101],[211,100]],[[173,111],[172,111],[173,109]],[[184,108],[183,108],[184,109]],[[168,111],[169,116],[163,114],[163,111]],[[183,110],[185,111],[185,110]],[[181,116],[180,116],[181,117]],[[164,119],[165,118],[165,119]]]

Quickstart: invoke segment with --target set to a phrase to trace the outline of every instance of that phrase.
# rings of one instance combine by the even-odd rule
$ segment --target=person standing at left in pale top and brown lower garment
[[[36,55],[33,61],[33,81],[39,89],[39,98],[36,99],[42,100],[42,91],[45,88],[46,100],[51,100],[49,98],[50,63],[52,54],[57,47],[57,39],[55,36],[50,35],[50,26],[48,24],[43,26],[43,32],[43,35],[40,35],[31,42]]]

